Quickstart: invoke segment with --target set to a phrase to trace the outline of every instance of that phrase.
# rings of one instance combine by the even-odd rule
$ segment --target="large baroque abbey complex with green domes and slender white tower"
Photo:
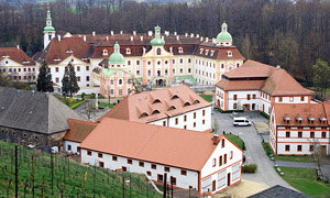
[[[128,34],[57,34],[47,11],[44,50],[34,55],[40,65],[45,61],[53,81],[61,90],[65,66],[75,66],[80,92],[101,92],[105,97],[129,95],[132,84],[156,87],[173,82],[215,85],[221,75],[243,64],[244,57],[233,45],[228,25],[222,24],[216,38],[176,32]]]

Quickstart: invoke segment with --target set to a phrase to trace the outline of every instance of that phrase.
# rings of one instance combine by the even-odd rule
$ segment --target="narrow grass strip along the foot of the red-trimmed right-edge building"
[[[274,155],[273,150],[268,142],[263,142],[263,147],[266,154]],[[312,158],[308,155],[274,155],[274,158],[277,161],[289,161],[289,162],[305,162],[305,163],[312,163]]]

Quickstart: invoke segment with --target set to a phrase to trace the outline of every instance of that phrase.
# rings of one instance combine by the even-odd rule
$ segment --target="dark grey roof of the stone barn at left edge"
[[[2,127],[52,134],[68,130],[68,118],[81,119],[52,95],[0,87]]]

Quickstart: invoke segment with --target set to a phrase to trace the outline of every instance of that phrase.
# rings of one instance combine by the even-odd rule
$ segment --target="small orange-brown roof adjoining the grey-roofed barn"
[[[97,122],[68,119],[70,129],[66,132],[64,140],[82,142],[89,133],[97,127]]]

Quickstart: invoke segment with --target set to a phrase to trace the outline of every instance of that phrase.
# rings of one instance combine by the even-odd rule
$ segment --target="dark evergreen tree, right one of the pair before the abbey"
[[[65,73],[62,79],[62,95],[73,97],[74,92],[79,91],[75,67],[69,63],[65,67]]]

